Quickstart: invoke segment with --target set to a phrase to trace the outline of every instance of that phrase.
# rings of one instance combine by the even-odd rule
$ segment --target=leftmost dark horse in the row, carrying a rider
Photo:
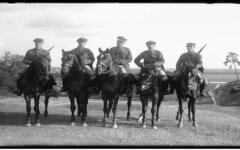
[[[27,110],[27,126],[31,126],[30,112],[31,112],[31,99],[34,98],[34,111],[36,125],[40,125],[39,121],[39,99],[40,94],[46,90],[47,83],[50,79],[49,74],[49,61],[43,57],[36,57],[30,64],[28,69],[22,76],[20,84],[22,87],[23,96],[26,101]]]

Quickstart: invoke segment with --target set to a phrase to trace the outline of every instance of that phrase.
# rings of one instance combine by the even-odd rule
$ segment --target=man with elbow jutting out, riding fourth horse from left
[[[146,42],[148,50],[145,50],[139,54],[135,58],[134,62],[138,67],[141,68],[141,72],[143,70],[147,70],[152,75],[159,77],[161,83],[164,83],[168,80],[167,74],[164,70],[165,59],[162,52],[155,50],[155,45],[155,41]],[[142,59],[143,63],[141,63]],[[166,88],[164,88],[164,90],[166,90]],[[164,93],[167,93],[167,91],[164,91]]]

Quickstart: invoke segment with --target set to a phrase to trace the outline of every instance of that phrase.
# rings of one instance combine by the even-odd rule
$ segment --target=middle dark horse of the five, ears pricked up
[[[99,88],[102,92],[102,99],[104,103],[104,118],[103,126],[107,126],[107,119],[112,109],[113,112],[113,128],[117,128],[116,113],[119,96],[126,93],[128,80],[123,75],[119,74],[117,68],[113,64],[113,60],[109,50],[102,51],[99,48],[99,56],[97,57],[96,72],[99,79]],[[129,84],[132,85],[134,81],[133,74],[128,75]],[[130,118],[131,96],[128,96],[128,114],[127,119]],[[109,103],[108,103],[109,102]],[[113,107],[113,108],[112,108]]]

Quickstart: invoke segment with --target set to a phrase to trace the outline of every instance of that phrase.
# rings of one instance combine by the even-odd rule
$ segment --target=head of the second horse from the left
[[[64,51],[62,50],[62,76],[68,75],[70,69],[73,67],[75,63],[78,63],[76,55],[71,51]]]

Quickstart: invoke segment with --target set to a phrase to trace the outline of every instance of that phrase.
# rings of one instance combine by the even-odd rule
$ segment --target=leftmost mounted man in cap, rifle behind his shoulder
[[[23,74],[25,73],[26,69],[30,66],[31,62],[33,62],[37,57],[46,57],[49,61],[49,70],[50,70],[50,64],[51,64],[51,56],[49,54],[49,50],[44,50],[42,48],[43,45],[43,39],[36,38],[33,40],[35,43],[35,48],[30,49],[26,52],[25,57],[23,58],[23,63],[26,65],[24,69],[22,69],[18,74],[17,79],[17,91],[14,91],[18,96],[22,95],[22,87],[20,85],[20,80],[23,77]],[[46,92],[49,94],[48,96],[54,95],[53,92],[53,86],[56,85],[54,78],[52,75],[49,74],[49,81],[46,87]]]

